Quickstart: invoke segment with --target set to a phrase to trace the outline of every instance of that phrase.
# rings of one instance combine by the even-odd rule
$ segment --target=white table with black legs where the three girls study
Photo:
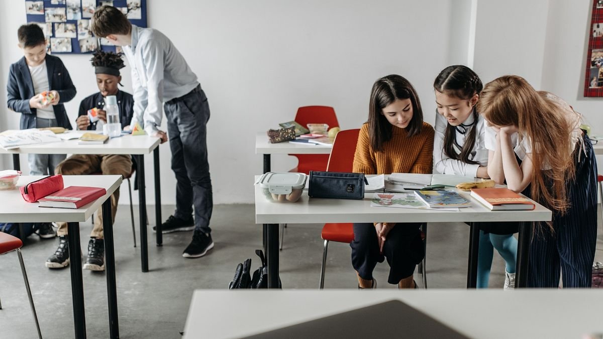
[[[256,176],[256,181],[259,176]],[[549,221],[552,213],[535,203],[533,211],[490,211],[470,197],[469,192],[459,191],[463,197],[473,202],[469,208],[456,211],[433,211],[424,209],[371,207],[373,193],[367,193],[363,200],[309,198],[304,191],[295,203],[275,203],[268,201],[259,185],[255,186],[256,224],[267,224],[268,287],[278,287],[279,273],[279,224],[290,223],[450,223],[491,222],[491,221]],[[266,227],[265,227],[266,228]],[[478,227],[472,226],[470,244],[477,244]],[[517,250],[517,286],[525,287],[531,224],[522,223]],[[470,245],[468,287],[474,287],[477,270],[477,246]]]

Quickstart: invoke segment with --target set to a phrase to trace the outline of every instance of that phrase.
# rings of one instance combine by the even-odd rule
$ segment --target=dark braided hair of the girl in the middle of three
[[[472,69],[463,65],[454,65],[444,68],[440,74],[434,80],[434,89],[440,93],[444,93],[453,98],[461,100],[470,100],[473,95],[479,94],[482,88],[482,81]],[[475,124],[470,127],[469,135],[465,140],[463,147],[461,147],[461,153],[456,153],[456,127],[450,124],[446,124],[446,131],[444,131],[444,149],[442,150],[450,159],[461,160],[465,163],[471,163],[473,165],[479,164],[475,160],[469,159],[470,154],[473,151],[476,138],[476,125],[478,122],[478,110],[473,107],[473,119]]]

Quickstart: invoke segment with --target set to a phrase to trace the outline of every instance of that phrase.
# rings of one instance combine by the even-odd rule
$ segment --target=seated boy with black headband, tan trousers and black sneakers
[[[113,52],[97,51],[92,57],[92,66],[95,68],[96,85],[100,92],[90,95],[81,101],[80,112],[75,120],[80,130],[103,130],[107,122],[107,114],[103,110],[104,98],[107,95],[115,95],[119,107],[119,119],[122,128],[130,125],[134,112],[134,100],[131,94],[119,90],[117,85],[121,81],[119,69],[124,67],[121,55]],[[99,121],[90,122],[87,112],[90,109],[98,109]],[[74,154],[59,163],[55,173],[65,175],[78,174],[121,174],[123,177],[130,176],[132,171],[132,160],[124,154]],[[111,213],[115,221],[117,203],[119,200],[119,189],[111,195]],[[67,244],[67,223],[57,223],[57,235],[59,238],[56,252],[46,259],[46,267],[62,268],[69,265],[69,249]],[[90,241],[88,242],[88,258],[84,268],[93,271],[103,271],[104,265],[104,241],[103,241],[103,211],[98,209],[94,221]]]

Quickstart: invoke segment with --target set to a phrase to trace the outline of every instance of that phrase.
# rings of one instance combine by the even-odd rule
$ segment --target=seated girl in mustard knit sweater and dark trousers
[[[412,84],[388,75],[373,84],[368,122],[362,125],[353,171],[364,174],[432,173],[434,128],[423,122],[423,111]],[[419,223],[354,224],[352,265],[359,288],[376,288],[373,270],[387,258],[388,282],[415,288],[412,274],[425,253]]]

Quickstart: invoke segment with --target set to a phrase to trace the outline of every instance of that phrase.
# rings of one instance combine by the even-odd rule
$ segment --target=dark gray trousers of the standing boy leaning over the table
[[[168,118],[172,170],[177,182],[174,217],[188,220],[194,206],[195,230],[210,233],[213,198],[207,162],[207,97],[198,86],[163,104],[163,109]]]

